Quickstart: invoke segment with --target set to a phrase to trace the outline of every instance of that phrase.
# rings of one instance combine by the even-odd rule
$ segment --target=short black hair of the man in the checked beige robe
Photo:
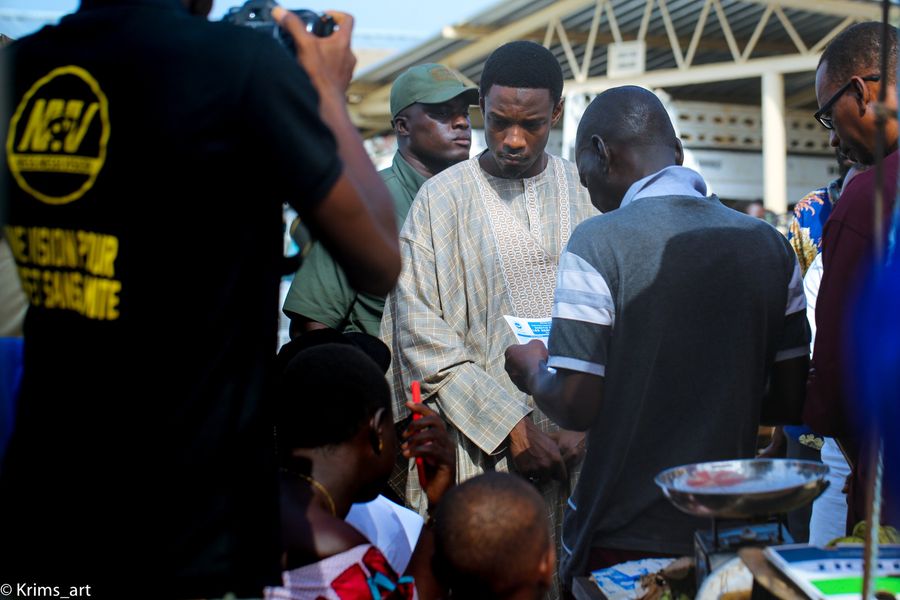
[[[481,72],[481,97],[492,85],[542,89],[550,92],[554,106],[562,97],[562,68],[553,53],[535,42],[509,42],[494,50]]]

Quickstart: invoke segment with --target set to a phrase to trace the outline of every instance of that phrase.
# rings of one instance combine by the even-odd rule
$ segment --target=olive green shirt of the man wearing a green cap
[[[391,166],[378,174],[394,199],[399,230],[416,193],[428,178],[413,169],[399,152],[394,154]],[[291,318],[302,315],[338,331],[361,331],[377,336],[384,297],[354,290],[343,269],[316,242],[294,275],[283,310]]]

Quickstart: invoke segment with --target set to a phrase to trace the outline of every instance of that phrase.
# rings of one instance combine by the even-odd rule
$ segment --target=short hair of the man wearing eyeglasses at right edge
[[[881,73],[882,24],[867,21],[851,25],[831,40],[819,66],[827,63],[828,75],[838,82],[849,81],[854,75],[865,77]],[[818,67],[817,67],[818,69]],[[897,70],[897,28],[888,26],[888,72],[884,82],[892,85]]]

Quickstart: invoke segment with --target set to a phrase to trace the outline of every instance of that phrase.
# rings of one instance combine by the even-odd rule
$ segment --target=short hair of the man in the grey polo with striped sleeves
[[[591,101],[578,124],[577,140],[599,135],[632,146],[675,146],[675,128],[660,99],[635,85],[604,91]]]

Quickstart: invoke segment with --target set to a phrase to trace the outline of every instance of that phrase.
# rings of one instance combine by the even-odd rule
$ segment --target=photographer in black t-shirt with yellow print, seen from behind
[[[94,597],[277,582],[282,203],[358,289],[399,272],[392,202],[344,104],[352,19],[320,39],[278,12],[295,59],[191,14],[208,9],[82,0],[3,51],[3,237],[30,307],[2,582]]]

